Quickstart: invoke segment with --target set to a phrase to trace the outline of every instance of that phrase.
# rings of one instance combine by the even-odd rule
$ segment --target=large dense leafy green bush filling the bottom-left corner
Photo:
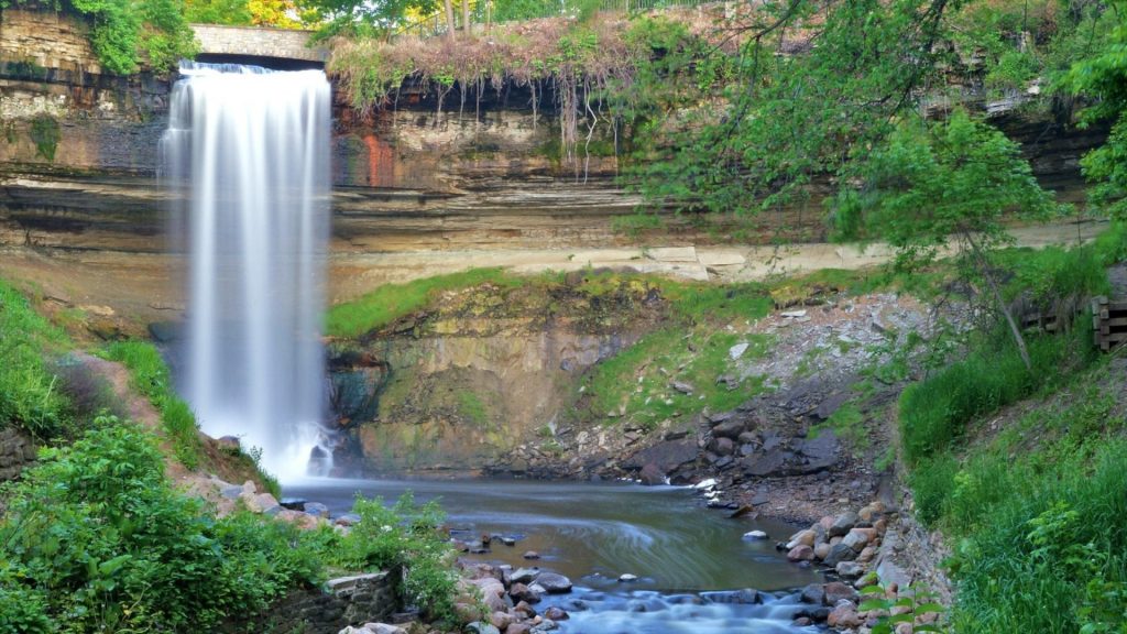
[[[215,520],[163,468],[152,437],[113,417],[42,450],[0,520],[0,602],[27,597],[16,615],[32,631],[45,616],[66,632],[201,632],[245,624],[320,579],[317,534]]]

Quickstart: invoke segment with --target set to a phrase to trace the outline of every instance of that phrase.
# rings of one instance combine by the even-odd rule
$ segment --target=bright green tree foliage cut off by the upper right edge
[[[1108,141],[1081,160],[1084,176],[1094,183],[1092,202],[1111,215],[1127,218],[1127,2],[1113,2],[1117,18],[1106,45],[1068,73],[1074,94],[1092,99],[1081,113],[1082,124],[1112,121]]]

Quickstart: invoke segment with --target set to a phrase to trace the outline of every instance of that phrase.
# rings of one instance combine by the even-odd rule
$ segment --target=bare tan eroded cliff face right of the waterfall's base
[[[633,344],[665,302],[640,279],[584,274],[449,292],[434,308],[330,345],[341,475],[524,473],[545,455],[583,373]]]

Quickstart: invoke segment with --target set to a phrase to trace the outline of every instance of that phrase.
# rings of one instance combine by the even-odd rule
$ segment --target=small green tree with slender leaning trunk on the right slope
[[[960,272],[986,283],[1031,369],[992,256],[1013,241],[1004,218],[1045,220],[1059,206],[1038,185],[1018,144],[956,111],[946,122],[916,120],[898,126],[850,182],[860,186],[843,187],[833,204],[842,234],[888,241],[905,268],[934,261],[953,243]]]

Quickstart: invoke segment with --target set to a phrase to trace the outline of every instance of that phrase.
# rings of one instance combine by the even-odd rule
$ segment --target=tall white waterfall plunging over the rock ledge
[[[165,168],[187,240],[184,388],[201,428],[317,475],[325,354],[329,85],[321,71],[185,63]]]

